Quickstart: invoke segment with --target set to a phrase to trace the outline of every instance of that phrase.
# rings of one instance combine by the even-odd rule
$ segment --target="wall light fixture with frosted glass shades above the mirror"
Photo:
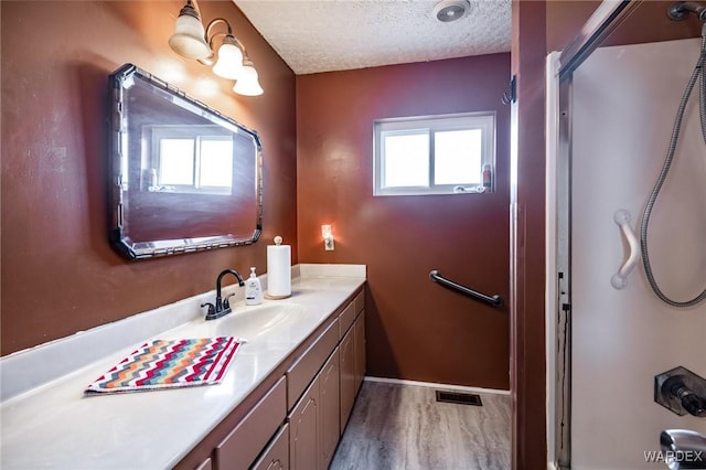
[[[214,32],[218,24],[224,24],[226,31]],[[217,53],[214,52],[216,39],[221,42]],[[235,93],[246,96],[264,93],[255,65],[247,57],[243,43],[233,35],[231,23],[224,18],[216,18],[204,30],[196,0],[186,0],[186,4],[179,12],[169,45],[176,54],[213,67],[214,74],[236,81],[233,87]]]

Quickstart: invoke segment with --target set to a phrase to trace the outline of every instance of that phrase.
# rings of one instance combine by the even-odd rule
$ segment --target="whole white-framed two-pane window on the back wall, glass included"
[[[376,120],[374,195],[490,191],[495,113]]]

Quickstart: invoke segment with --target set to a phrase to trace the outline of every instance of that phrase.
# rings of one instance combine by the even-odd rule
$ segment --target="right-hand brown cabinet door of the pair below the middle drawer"
[[[321,462],[319,468],[329,468],[335,447],[341,437],[341,398],[340,398],[339,349],[323,365],[319,373],[319,392],[321,394],[320,421],[321,427]]]

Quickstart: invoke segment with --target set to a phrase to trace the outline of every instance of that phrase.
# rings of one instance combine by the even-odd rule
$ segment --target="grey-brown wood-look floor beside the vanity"
[[[436,389],[364,382],[333,470],[507,470],[510,396],[438,403]]]

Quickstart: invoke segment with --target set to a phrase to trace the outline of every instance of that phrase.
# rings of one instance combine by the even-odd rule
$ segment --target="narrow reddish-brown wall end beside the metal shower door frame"
[[[547,2],[546,4],[549,4]],[[546,468],[545,383],[545,2],[513,1],[512,72],[517,76],[511,159],[513,201],[512,404],[513,464]]]

